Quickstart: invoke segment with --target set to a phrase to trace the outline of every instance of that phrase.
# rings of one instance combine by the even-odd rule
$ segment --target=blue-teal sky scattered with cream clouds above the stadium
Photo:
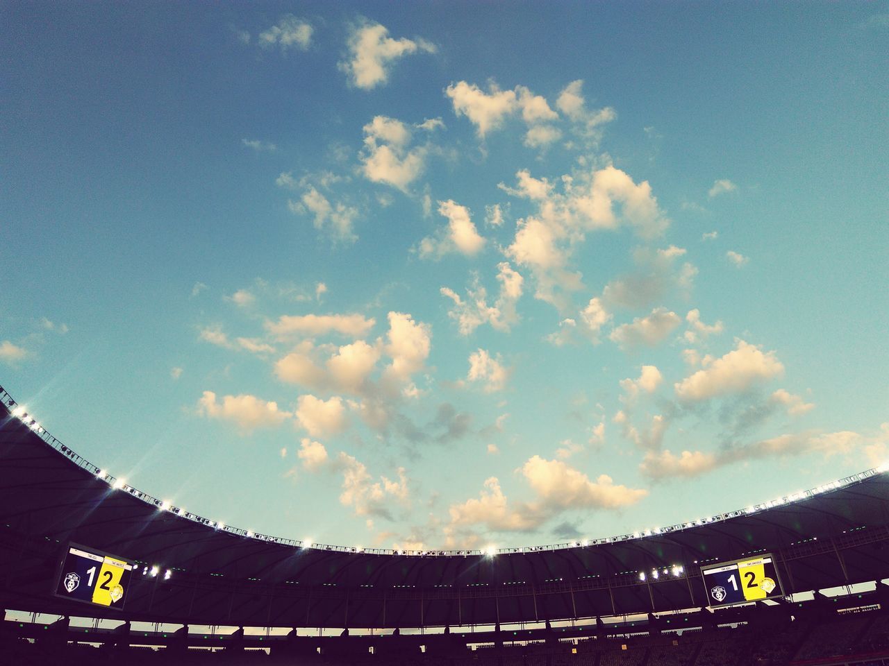
[[[254,532],[562,543],[889,459],[889,4],[0,4],[0,385]]]

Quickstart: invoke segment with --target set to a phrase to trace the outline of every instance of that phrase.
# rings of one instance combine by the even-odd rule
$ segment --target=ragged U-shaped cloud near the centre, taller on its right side
[[[518,321],[516,303],[522,296],[525,279],[509,266],[509,262],[501,262],[497,265],[497,270],[500,291],[491,305],[488,304],[487,289],[479,284],[477,276],[467,289],[465,299],[453,289],[440,289],[442,296],[453,301],[448,316],[457,322],[461,335],[468,336],[485,323],[490,324],[493,329],[509,330]]]

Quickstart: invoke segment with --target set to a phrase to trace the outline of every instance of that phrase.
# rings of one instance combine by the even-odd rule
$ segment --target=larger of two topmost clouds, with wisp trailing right
[[[350,83],[365,91],[388,82],[391,66],[397,59],[412,53],[435,53],[435,44],[424,39],[416,41],[402,37],[393,39],[388,29],[379,23],[366,23],[353,28],[348,36],[348,61],[340,62]]]

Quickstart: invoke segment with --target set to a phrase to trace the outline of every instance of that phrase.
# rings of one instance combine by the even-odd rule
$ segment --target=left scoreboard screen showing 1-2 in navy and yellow
[[[88,604],[123,608],[131,573],[132,564],[125,559],[71,543],[55,593]]]

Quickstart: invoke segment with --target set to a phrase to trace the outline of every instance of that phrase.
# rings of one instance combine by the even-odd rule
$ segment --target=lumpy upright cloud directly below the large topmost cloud
[[[408,149],[412,134],[399,120],[377,115],[364,125],[364,150],[360,155],[364,177],[407,193],[425,168],[426,147]]]

